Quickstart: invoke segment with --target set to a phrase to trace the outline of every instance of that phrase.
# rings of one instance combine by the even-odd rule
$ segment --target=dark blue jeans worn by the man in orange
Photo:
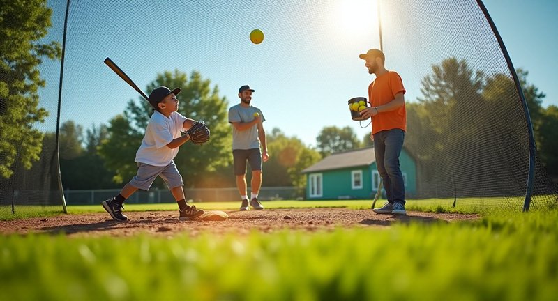
[[[405,132],[400,129],[384,130],[374,134],[374,153],[379,176],[382,177],[389,203],[405,205],[405,182],[399,167]]]

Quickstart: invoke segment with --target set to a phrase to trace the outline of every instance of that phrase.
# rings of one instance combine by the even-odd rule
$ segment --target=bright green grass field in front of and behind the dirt
[[[175,210],[167,205],[126,210]],[[370,201],[266,205],[368,210]],[[557,220],[557,210],[494,210],[474,222],[248,236],[0,236],[0,300],[556,300]]]

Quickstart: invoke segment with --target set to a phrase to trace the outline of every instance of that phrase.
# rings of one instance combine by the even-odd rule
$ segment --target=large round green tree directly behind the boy
[[[202,176],[216,171],[232,162],[231,135],[227,121],[228,102],[219,96],[218,87],[211,88],[211,81],[193,71],[186,73],[174,70],[156,75],[156,79],[146,88],[151,92],[158,86],[181,88],[179,113],[194,120],[203,120],[211,130],[209,143],[198,146],[183,144],[174,159],[183,176],[186,187],[193,187]],[[149,102],[141,99],[139,104],[130,100],[123,115],[116,116],[107,128],[108,137],[99,148],[107,168],[114,172],[114,181],[123,183],[130,180],[137,171],[134,162],[137,148],[140,147],[146,125],[153,112]]]

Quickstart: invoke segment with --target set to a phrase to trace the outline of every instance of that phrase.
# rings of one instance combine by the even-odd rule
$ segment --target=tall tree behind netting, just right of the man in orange
[[[483,72],[474,72],[465,60],[451,57],[432,65],[421,80],[422,98],[407,102],[405,146],[418,159],[418,177],[424,182],[451,181],[456,151],[479,148],[483,111]],[[478,108],[478,111],[471,110]],[[460,166],[474,167],[474,157],[462,156]],[[470,162],[467,162],[470,161]]]

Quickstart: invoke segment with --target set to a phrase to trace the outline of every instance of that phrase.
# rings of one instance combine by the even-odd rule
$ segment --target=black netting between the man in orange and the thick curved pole
[[[386,65],[405,70],[405,146],[418,160],[418,197],[522,208],[528,121],[481,6],[383,1],[382,16]],[[538,161],[534,176],[531,206],[556,204],[556,186]]]

